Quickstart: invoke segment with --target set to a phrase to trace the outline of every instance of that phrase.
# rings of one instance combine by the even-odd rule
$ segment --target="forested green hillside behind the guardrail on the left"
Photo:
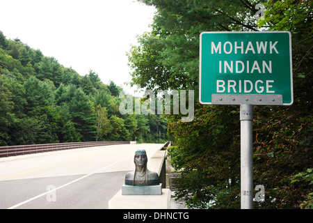
[[[121,91],[93,70],[81,76],[0,31],[0,146],[166,141],[163,116],[120,114]]]

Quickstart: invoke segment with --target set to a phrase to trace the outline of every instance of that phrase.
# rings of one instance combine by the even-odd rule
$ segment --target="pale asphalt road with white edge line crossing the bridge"
[[[162,145],[100,146],[1,157],[0,208],[107,208],[125,174],[134,169],[134,152],[145,148],[149,160]]]

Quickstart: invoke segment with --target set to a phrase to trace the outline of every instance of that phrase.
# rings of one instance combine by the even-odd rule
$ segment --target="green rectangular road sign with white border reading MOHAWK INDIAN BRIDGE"
[[[291,34],[201,33],[199,99],[208,105],[291,105]]]

